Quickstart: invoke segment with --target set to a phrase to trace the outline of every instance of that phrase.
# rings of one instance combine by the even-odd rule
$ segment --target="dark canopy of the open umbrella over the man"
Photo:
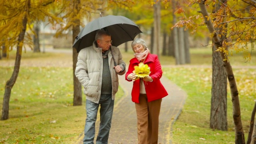
[[[92,46],[95,34],[100,29],[107,30],[111,34],[113,46],[119,46],[124,42],[134,40],[135,36],[142,33],[132,20],[124,16],[103,16],[86,24],[79,32],[73,44],[73,48],[79,52],[83,48]]]

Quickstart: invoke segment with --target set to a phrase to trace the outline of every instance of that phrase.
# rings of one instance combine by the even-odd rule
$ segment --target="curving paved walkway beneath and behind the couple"
[[[172,144],[172,124],[182,110],[186,93],[166,77],[162,76],[160,80],[169,95],[162,100],[158,144]],[[108,142],[109,144],[136,144],[136,110],[130,95],[132,82],[126,81],[124,75],[119,77],[119,81],[124,90],[124,96],[115,104]],[[96,122],[96,132],[98,131],[98,125],[99,120]],[[76,144],[82,144],[83,137],[84,134],[81,134]]]

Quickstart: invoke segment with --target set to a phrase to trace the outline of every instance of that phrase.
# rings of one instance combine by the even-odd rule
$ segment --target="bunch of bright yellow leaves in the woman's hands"
[[[150,74],[150,67],[147,64],[143,64],[142,62],[138,66],[134,66],[134,71],[138,78],[146,78]]]

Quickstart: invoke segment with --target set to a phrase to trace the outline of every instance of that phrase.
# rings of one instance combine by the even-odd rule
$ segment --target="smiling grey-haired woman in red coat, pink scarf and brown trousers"
[[[137,38],[132,42],[135,58],[130,60],[126,80],[133,81],[132,102],[135,102],[137,113],[138,144],[157,144],[158,125],[162,98],[167,96],[160,82],[162,68],[156,54],[150,54],[146,42]],[[134,66],[142,62],[150,67],[150,74],[138,78]]]

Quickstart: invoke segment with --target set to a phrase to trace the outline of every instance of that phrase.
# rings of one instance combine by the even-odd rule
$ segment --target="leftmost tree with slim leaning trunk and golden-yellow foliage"
[[[60,19],[48,12],[48,6],[52,3],[52,0],[44,0],[43,2],[30,0],[0,1],[0,11],[5,13],[5,16],[1,16],[2,19],[0,20],[0,35],[2,36],[0,45],[6,46],[7,53],[15,46],[17,48],[14,70],[5,85],[1,120],[6,120],[9,117],[11,91],[20,70],[24,44],[32,46],[31,33],[28,33],[27,29],[33,32],[32,23],[37,20],[44,21],[45,18],[48,18],[52,24],[60,22]]]

